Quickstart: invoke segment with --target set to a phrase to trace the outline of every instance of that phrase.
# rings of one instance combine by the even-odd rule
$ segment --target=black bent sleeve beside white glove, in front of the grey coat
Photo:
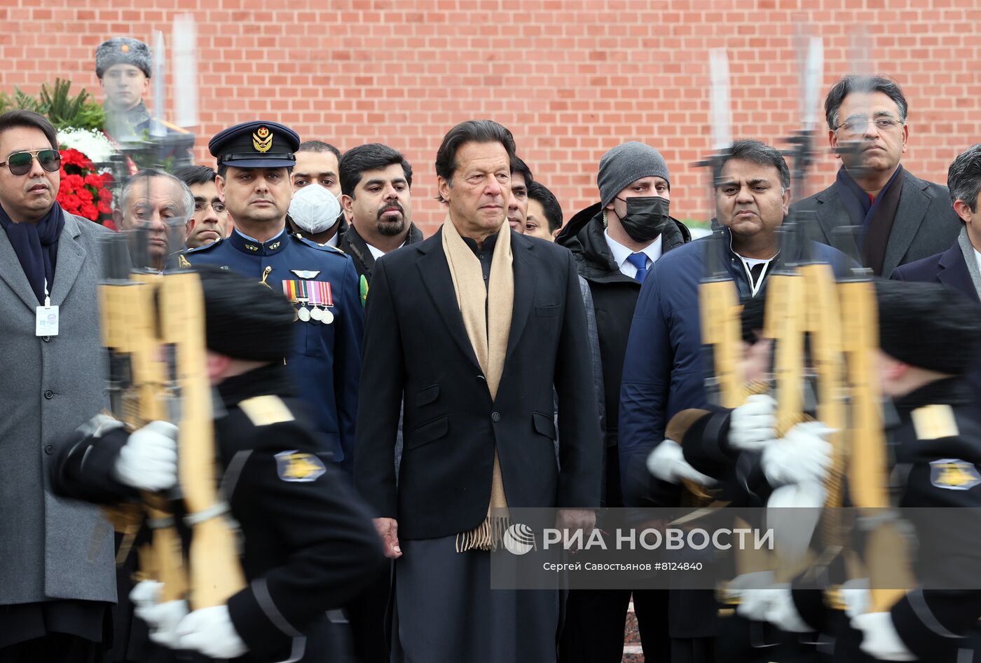
[[[137,491],[116,481],[113,468],[129,433],[116,428],[103,434],[78,429],[61,445],[52,484],[63,495],[96,504],[111,504],[135,497]]]

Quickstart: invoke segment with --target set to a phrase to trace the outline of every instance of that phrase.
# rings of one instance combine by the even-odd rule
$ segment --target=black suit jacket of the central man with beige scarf
[[[512,507],[596,507],[599,433],[586,312],[572,253],[512,233],[514,312],[491,401],[456,303],[442,231],[375,263],[368,296],[355,484],[402,538],[484,520],[497,449]],[[559,463],[552,385],[558,394]],[[405,398],[398,486],[394,444]]]

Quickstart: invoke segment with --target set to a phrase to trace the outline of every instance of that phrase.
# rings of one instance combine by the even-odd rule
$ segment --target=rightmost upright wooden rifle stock
[[[875,284],[852,280],[841,284],[842,314],[846,327],[845,351],[849,359],[852,387],[849,438],[849,494],[858,509],[882,510],[891,506],[889,497],[886,438],[875,351],[879,346],[878,309]],[[881,512],[880,512],[881,513]],[[871,514],[876,515],[874,512]],[[908,544],[890,523],[873,528],[864,551],[871,589],[870,612],[889,610],[907,588],[914,587]]]

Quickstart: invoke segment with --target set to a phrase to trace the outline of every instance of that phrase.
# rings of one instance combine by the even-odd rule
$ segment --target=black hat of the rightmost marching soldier
[[[981,307],[946,285],[878,280],[879,346],[905,364],[950,376],[981,353]]]

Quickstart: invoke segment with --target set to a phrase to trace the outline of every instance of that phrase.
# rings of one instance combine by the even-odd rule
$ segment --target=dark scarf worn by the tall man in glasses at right
[[[903,193],[903,166],[897,167],[896,173],[889,178],[874,201],[869,199],[868,193],[858,186],[844,166],[838,170],[835,189],[849,213],[852,226],[861,227],[858,245],[862,263],[871,268],[876,276],[880,276],[882,264],[886,260],[886,245],[893,231],[896,211],[900,207],[900,195]]]

